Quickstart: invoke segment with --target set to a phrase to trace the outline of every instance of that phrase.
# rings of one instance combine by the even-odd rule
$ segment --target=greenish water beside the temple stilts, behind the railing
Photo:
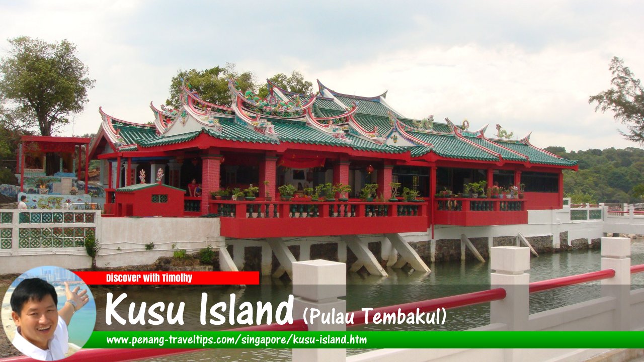
[[[532,258],[530,280],[547,280],[560,276],[569,276],[584,272],[600,270],[600,251],[571,251],[560,254],[542,254]],[[644,263],[644,240],[634,240],[632,243],[632,265]],[[450,296],[465,292],[489,289],[489,263],[452,262],[430,265],[430,274],[406,273],[399,270],[388,270],[388,278],[377,278],[356,273],[347,274],[347,310],[359,310],[363,307],[381,307],[410,301],[426,300]],[[198,321],[198,305],[201,292],[208,292],[210,303],[218,300],[229,300],[229,294],[235,292],[237,303],[243,301],[272,301],[273,305],[286,300],[291,293],[289,283],[280,283],[270,278],[261,280],[260,286],[249,287],[245,290],[213,289],[212,287],[195,287],[182,289],[146,289],[128,292],[128,301],[186,301],[185,319]],[[644,273],[632,276],[633,288],[643,287]],[[546,291],[531,295],[530,312],[535,313],[552,309],[599,296],[600,282],[590,285],[565,287],[556,291]],[[98,303],[104,305],[104,303]],[[194,305],[194,308],[189,308]],[[125,309],[124,309],[125,310]],[[99,310],[99,315],[104,311]],[[126,314],[127,312],[122,312]],[[430,326],[375,326],[368,325],[352,330],[455,330],[469,329],[489,323],[489,303],[472,307],[448,310],[446,325]],[[103,328],[106,326],[102,326]],[[146,326],[147,327],[147,326]],[[186,329],[179,326],[177,329]],[[222,329],[230,328],[223,326]],[[97,324],[97,329],[101,329]],[[196,329],[196,328],[195,328]],[[201,329],[207,330],[202,327]],[[355,354],[359,350],[348,350]],[[289,349],[211,349],[178,356],[149,359],[146,362],[166,361],[290,361]]]

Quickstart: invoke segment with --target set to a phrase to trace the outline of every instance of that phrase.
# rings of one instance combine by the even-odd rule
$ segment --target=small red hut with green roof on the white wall
[[[137,184],[116,190],[117,216],[184,216],[185,190],[164,184]]]

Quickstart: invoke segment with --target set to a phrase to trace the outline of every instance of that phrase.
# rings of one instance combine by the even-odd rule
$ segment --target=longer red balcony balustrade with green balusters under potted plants
[[[276,238],[422,232],[425,202],[312,202],[210,200],[222,236]]]

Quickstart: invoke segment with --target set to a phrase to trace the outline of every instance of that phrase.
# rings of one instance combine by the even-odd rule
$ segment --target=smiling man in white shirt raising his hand
[[[58,296],[53,285],[39,278],[21,281],[11,296],[11,316],[17,331],[12,343],[26,356],[41,361],[62,359],[68,352],[67,326],[73,314],[87,304],[87,291],[70,291],[65,282],[67,300],[57,310]]]

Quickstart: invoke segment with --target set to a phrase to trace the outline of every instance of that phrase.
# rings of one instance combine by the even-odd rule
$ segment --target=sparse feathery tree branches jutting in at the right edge
[[[597,102],[595,111],[613,111],[614,119],[629,130],[629,133],[620,131],[620,134],[627,140],[644,144],[644,90],[641,83],[618,57],[613,57],[610,70],[613,87],[593,95],[588,102]]]

